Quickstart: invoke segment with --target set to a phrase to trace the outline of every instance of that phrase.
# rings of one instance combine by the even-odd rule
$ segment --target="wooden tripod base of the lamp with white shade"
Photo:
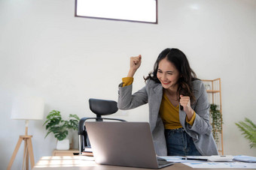
[[[29,169],[29,158],[30,158],[30,166],[31,169],[35,166],[35,160],[34,160],[34,153],[33,153],[33,147],[32,147],[32,136],[20,136],[17,145],[14,149],[14,153],[11,156],[11,160],[8,164],[8,170],[11,169],[11,166],[14,163],[15,157],[17,155],[17,152],[19,151],[21,142],[24,141],[24,153],[23,153],[23,166],[24,166],[24,161],[26,161],[26,169]]]

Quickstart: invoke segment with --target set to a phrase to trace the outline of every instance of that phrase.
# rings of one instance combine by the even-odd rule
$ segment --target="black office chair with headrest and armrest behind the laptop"
[[[90,147],[90,140],[87,136],[87,130],[84,126],[85,121],[95,119],[96,121],[111,120],[124,121],[117,118],[102,118],[102,115],[111,115],[117,112],[117,102],[114,100],[89,99],[90,110],[96,114],[96,118],[81,118],[78,124],[79,136],[79,154],[84,151],[84,148]]]

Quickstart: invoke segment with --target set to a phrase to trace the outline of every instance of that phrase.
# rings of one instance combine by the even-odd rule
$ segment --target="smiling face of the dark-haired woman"
[[[157,79],[161,82],[163,88],[171,91],[177,91],[179,73],[174,64],[163,58],[158,64]]]

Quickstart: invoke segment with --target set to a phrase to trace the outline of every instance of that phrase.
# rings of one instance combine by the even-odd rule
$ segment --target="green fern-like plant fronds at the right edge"
[[[250,142],[250,147],[256,148],[256,124],[254,124],[250,119],[245,118],[245,121],[239,121],[235,123],[239,130],[242,131],[242,135],[245,136],[245,139],[248,139]]]

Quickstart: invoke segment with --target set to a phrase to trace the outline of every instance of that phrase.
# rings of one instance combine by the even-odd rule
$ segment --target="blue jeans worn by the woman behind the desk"
[[[165,130],[168,156],[201,156],[193,139],[183,128]]]

